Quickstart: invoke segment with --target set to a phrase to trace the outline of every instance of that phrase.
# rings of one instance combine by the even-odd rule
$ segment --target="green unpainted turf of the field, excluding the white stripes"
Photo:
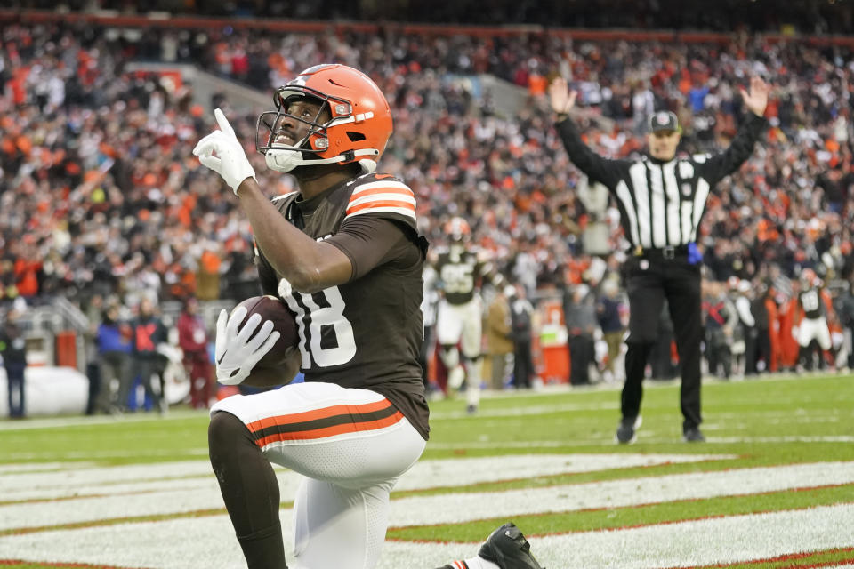
[[[499,491],[577,484],[628,477],[652,477],[802,462],[854,460],[854,377],[827,375],[707,381],[703,413],[708,442],[681,442],[677,382],[649,381],[642,405],[643,425],[636,445],[615,445],[618,419],[616,389],[574,389],[548,394],[514,393],[484,399],[480,413],[469,416],[461,399],[431,403],[431,443],[424,458],[498,456],[519,453],[714,453],[729,461],[663,464],[648,468],[533,477],[451,489],[406,494]],[[51,420],[28,425],[0,425],[0,463],[85,461],[94,465],[201,460],[206,454],[205,413],[177,412],[167,419],[126,416],[119,420]],[[70,423],[70,424],[68,424]],[[29,428],[41,425],[36,428]],[[441,485],[438,481],[437,485]],[[785,509],[805,509],[854,501],[854,485],[839,485],[696,501],[672,501],[616,509],[520,516],[515,521],[529,534],[548,534],[631,527],[703,517]],[[212,510],[214,511],[214,510]],[[399,540],[479,541],[498,520],[392,528]],[[802,557],[757,560],[733,567],[813,567],[854,557],[834,549]],[[23,569],[58,565],[14,565]],[[87,565],[80,565],[87,566]]]

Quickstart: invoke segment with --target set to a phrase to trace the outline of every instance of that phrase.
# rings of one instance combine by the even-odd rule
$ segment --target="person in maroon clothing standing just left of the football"
[[[189,378],[189,405],[206,409],[214,397],[214,371],[208,354],[209,339],[205,320],[198,314],[198,300],[190,297],[178,317],[178,345],[184,355]]]

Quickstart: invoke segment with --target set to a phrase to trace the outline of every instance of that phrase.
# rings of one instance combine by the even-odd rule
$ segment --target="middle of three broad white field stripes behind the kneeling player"
[[[192,488],[175,485],[172,491],[75,498],[64,501],[0,506],[0,529],[42,527],[57,523],[97,522],[101,519],[155,514],[179,514],[222,508],[214,478]],[[662,477],[632,478],[579,485],[509,490],[504,492],[447,493],[409,496],[391,503],[390,525],[465,522],[484,517],[616,508],[638,504],[761,493],[804,486],[854,482],[854,462],[825,462],[759,469],[733,469]],[[296,492],[296,477],[281,477],[283,501]],[[431,480],[430,485],[435,484]]]

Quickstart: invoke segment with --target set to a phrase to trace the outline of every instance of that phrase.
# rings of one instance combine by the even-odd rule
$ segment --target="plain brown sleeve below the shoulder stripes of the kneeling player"
[[[350,281],[387,262],[399,261],[409,266],[421,257],[398,223],[367,215],[345,220],[338,233],[325,243],[333,244],[350,258]]]

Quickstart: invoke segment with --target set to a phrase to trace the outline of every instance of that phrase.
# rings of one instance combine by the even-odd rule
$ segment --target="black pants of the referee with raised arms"
[[[683,431],[702,422],[700,416],[700,265],[685,255],[673,259],[637,258],[627,261],[626,289],[629,294],[629,338],[625,354],[625,384],[621,412],[625,419],[641,413],[643,376],[649,352],[656,341],[662,302],[667,299],[681,369]]]

